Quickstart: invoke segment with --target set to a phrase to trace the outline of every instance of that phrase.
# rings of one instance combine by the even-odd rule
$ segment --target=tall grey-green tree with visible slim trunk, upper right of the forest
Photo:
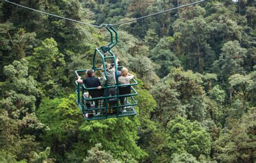
[[[176,39],[176,49],[181,47],[181,56],[185,68],[203,73],[207,67],[213,63],[214,51],[207,44],[210,26],[203,17],[196,17],[184,22],[184,19],[177,19],[173,24],[174,37]],[[178,44],[179,43],[179,44]]]

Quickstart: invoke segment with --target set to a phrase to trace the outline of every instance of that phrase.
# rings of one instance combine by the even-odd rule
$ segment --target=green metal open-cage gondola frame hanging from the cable
[[[97,97],[97,98],[90,98],[86,96],[86,92],[89,90],[97,90],[97,87],[94,88],[87,88],[84,84],[80,84],[76,81],[76,94],[77,94],[77,100],[76,103],[78,107],[80,108],[80,111],[83,114],[84,119],[86,120],[98,120],[98,119],[107,119],[107,118],[114,118],[114,117],[125,117],[125,116],[134,116],[137,114],[136,110],[134,109],[134,106],[137,105],[136,100],[134,99],[134,96],[136,96],[138,93],[136,90],[134,90],[133,86],[137,85],[137,81],[133,78],[131,80],[131,84],[126,85],[120,85],[118,83],[118,70],[122,67],[118,67],[116,65],[116,57],[114,53],[111,51],[112,47],[118,43],[118,33],[117,31],[110,25],[103,25],[102,28],[106,28],[107,31],[110,32],[111,36],[111,42],[107,44],[107,46],[98,47],[95,49],[95,53],[93,56],[93,66],[91,69],[93,69],[95,72],[100,71],[102,69],[96,67],[96,55],[99,55],[102,58],[102,64],[104,66],[104,74],[107,78],[106,73],[106,66],[105,61],[107,59],[113,60],[114,63],[114,69],[116,69],[116,85],[107,86],[106,84],[103,86],[103,89],[105,90],[103,97]],[[115,35],[115,40],[113,40],[113,33]],[[76,76],[79,76],[79,73],[85,73],[87,70],[77,70]],[[131,87],[131,93],[130,94],[119,94],[120,87],[129,86]],[[111,87],[117,88],[117,94],[116,96],[109,96],[107,94],[108,89]],[[119,97],[124,97],[125,102],[124,104],[120,104]],[[111,99],[116,99],[113,103]],[[110,103],[111,101],[111,103]],[[90,117],[86,117],[85,114],[87,112],[90,112]]]

